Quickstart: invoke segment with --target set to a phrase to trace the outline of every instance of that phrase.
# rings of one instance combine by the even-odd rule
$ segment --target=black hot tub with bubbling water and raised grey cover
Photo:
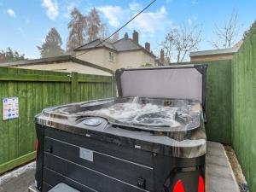
[[[37,189],[204,192],[206,69],[120,69],[119,97],[44,109]]]

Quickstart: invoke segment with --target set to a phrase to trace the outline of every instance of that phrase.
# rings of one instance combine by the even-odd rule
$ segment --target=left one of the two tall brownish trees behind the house
[[[73,53],[73,49],[85,43],[86,18],[79,9],[74,8],[71,12],[71,20],[68,23],[69,36],[67,38],[67,52]]]

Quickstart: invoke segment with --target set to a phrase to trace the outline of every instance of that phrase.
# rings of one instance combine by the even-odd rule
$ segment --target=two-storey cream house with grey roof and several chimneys
[[[154,66],[155,55],[150,50],[150,44],[146,42],[144,47],[140,45],[137,31],[133,32],[132,38],[126,32],[124,38],[113,43],[96,39],[74,51],[78,59],[113,71],[126,67]]]

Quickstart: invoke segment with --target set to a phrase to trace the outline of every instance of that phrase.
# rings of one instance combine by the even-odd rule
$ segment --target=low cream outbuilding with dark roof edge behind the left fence
[[[62,55],[27,61],[0,63],[0,67],[14,67],[66,73],[77,72],[107,76],[111,76],[113,74],[113,72],[108,68],[101,67],[87,61],[79,60],[71,55]]]

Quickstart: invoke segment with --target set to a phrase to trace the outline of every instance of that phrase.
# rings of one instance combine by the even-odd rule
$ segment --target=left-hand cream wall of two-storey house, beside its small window
[[[76,55],[78,59],[88,61],[90,63],[96,64],[98,66],[106,67],[108,69],[114,70],[116,65],[116,60],[109,61],[108,60],[108,54],[110,49],[106,48],[98,48],[98,49],[88,49],[88,50],[81,50],[77,51]],[[82,53],[85,53],[83,55],[80,55]],[[116,54],[114,55],[116,58]]]

